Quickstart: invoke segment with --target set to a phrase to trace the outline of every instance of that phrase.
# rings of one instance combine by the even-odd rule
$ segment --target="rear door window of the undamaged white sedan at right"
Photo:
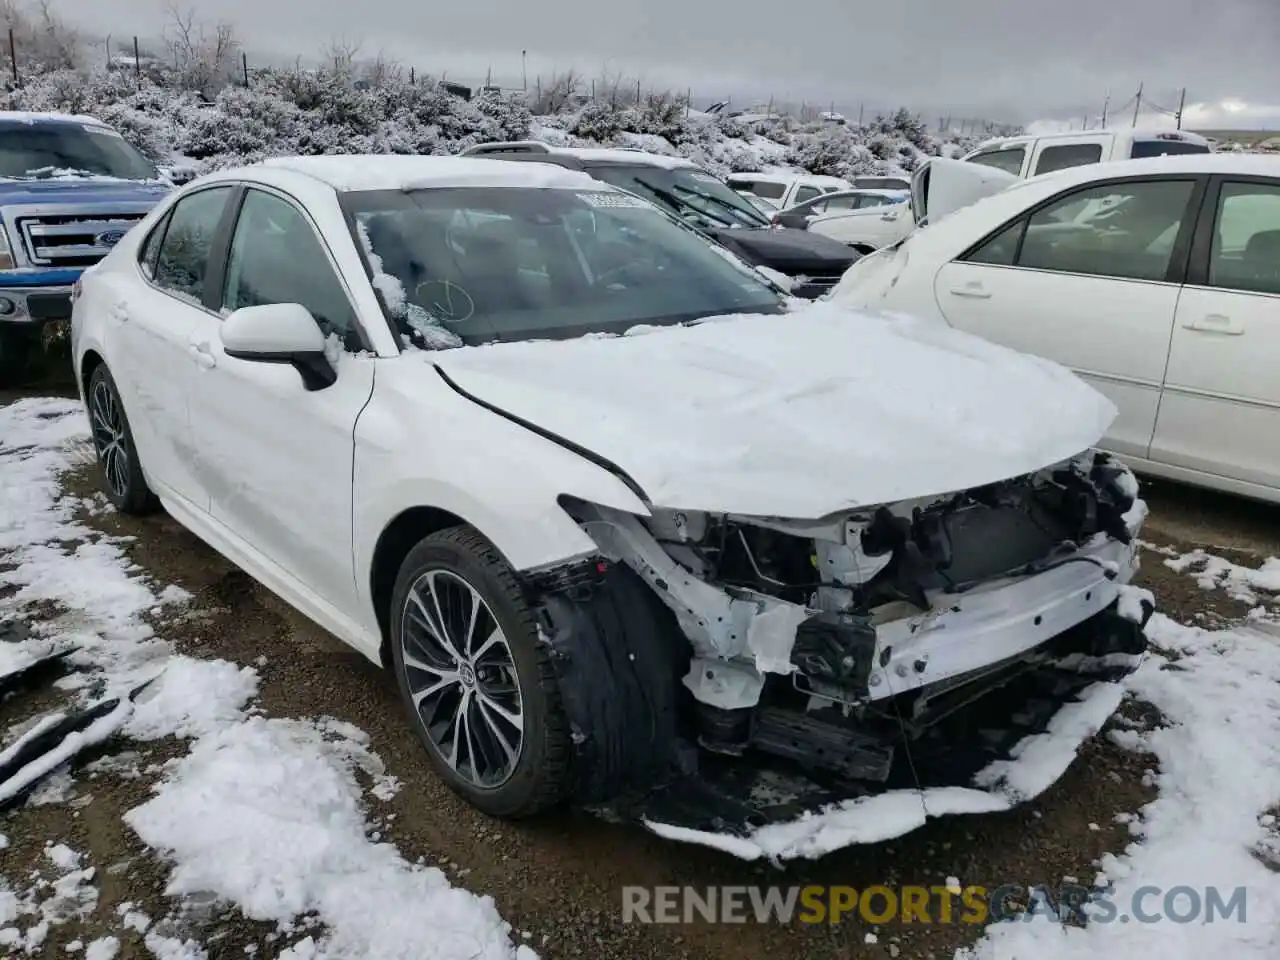
[[[1019,218],[964,260],[1089,276],[1164,280],[1194,188],[1194,180],[1135,180],[1076,191],[1041,207],[1029,219]],[[1019,250],[1024,220],[1027,229]]]

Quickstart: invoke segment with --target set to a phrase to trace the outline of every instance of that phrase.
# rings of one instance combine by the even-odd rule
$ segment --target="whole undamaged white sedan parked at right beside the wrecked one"
[[[1075,166],[934,220],[924,189],[965,166],[923,168],[913,207],[929,225],[833,296],[1064,364],[1120,410],[1106,449],[1280,502],[1280,157]]]

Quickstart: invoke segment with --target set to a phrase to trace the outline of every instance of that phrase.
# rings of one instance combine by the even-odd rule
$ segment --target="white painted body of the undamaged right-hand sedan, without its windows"
[[[957,163],[931,164],[934,186]],[[1107,275],[1106,268],[1085,274],[964,260],[979,241],[1039,205],[1128,178],[1189,178],[1208,191],[1222,182],[1257,184],[1274,200],[1262,196],[1251,201],[1247,218],[1234,215],[1231,243],[1280,230],[1276,157],[1193,154],[1092,164],[1004,191],[992,183],[992,196],[938,221],[931,211],[929,225],[855,264],[832,296],[859,308],[942,320],[1065,364],[1120,411],[1103,439],[1106,449],[1157,476],[1280,500],[1280,380],[1274,374],[1280,362],[1280,291],[1213,285],[1203,274],[1217,229],[1206,220],[1215,216],[1216,193],[1203,212],[1194,207],[1184,216],[1199,229],[1203,246],[1190,251],[1199,275],[1128,279]],[[1091,201],[1075,223],[1103,210]],[[1172,236],[1158,242],[1166,244],[1162,251]]]

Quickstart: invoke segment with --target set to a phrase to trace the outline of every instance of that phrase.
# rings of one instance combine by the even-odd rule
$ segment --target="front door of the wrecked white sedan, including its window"
[[[310,216],[289,197],[250,188],[239,206],[223,279],[223,311],[301,303],[329,338],[337,380],[307,389],[284,362],[229,357],[220,319],[197,348],[192,434],[215,522],[274,564],[275,573],[349,612],[351,476],[356,419],[372,392],[374,358],[360,348],[347,288]]]

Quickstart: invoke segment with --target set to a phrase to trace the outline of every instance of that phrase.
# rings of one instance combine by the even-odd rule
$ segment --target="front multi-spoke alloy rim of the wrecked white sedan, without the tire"
[[[401,653],[413,709],[440,758],[480,788],[511,780],[525,742],[524,698],[480,593],[448,570],[419,576],[401,613]]]

